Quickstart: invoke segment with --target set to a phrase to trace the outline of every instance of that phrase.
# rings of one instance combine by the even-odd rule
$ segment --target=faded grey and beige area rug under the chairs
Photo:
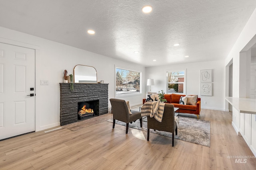
[[[107,121],[113,123],[113,119],[108,119]],[[179,122],[178,135],[175,135],[174,133],[174,139],[210,147],[210,121],[189,117],[180,117]],[[126,123],[118,120],[116,120],[116,124],[126,126]],[[129,124],[129,127],[147,131],[148,128],[146,117],[142,121],[142,127],[140,127],[139,120]],[[170,132],[154,131],[153,129],[150,129],[150,132],[172,138],[172,133]]]

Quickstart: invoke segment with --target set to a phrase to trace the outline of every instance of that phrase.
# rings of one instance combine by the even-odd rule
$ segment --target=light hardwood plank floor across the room
[[[112,129],[112,123],[105,121],[110,118],[111,113],[87,119],[82,121],[84,128],[77,131],[62,126],[49,133],[40,131],[0,141],[0,169],[256,169],[255,158],[236,163],[235,158],[228,157],[253,156],[244,139],[236,135],[230,112],[201,110],[200,119],[211,121],[210,147],[177,139],[172,147],[171,138],[154,133],[148,142],[145,131],[129,128],[125,134],[125,127],[118,124]]]

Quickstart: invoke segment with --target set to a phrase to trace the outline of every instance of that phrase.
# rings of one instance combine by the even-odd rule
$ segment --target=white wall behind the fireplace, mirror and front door
[[[141,71],[142,77],[145,77],[145,68],[138,64],[116,60],[4,27],[0,27],[0,42],[36,47],[36,131],[60,125],[59,83],[63,82],[65,69],[68,70],[69,75],[74,74],[73,69],[77,64],[94,66],[97,70],[98,81],[104,80],[104,83],[109,84],[109,98],[114,98],[115,93],[115,65]],[[49,85],[41,86],[40,80],[48,80]],[[145,83],[143,78],[142,84]],[[129,100],[131,105],[141,104],[145,96],[144,86],[142,92],[143,95],[130,96],[124,100]]]

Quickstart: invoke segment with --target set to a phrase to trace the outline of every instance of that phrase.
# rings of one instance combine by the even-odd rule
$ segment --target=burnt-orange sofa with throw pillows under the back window
[[[197,98],[196,105],[182,105],[179,104],[180,97],[186,96],[182,94],[164,94],[164,98],[167,100],[165,103],[173,104],[174,107],[180,108],[180,113],[190,113],[195,114],[197,116],[197,119],[199,118],[200,111],[201,111],[201,98]],[[194,96],[194,95],[189,95]],[[144,104],[146,99],[142,100],[142,103]]]

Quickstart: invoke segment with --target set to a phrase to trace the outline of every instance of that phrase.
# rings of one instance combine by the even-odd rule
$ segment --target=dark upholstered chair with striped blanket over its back
[[[158,131],[166,131],[172,133],[172,146],[174,146],[174,131],[177,135],[177,124],[174,121],[174,106],[172,104],[164,105],[164,113],[162,122],[157,121],[154,117],[147,117],[148,119],[148,141],[149,130],[154,129]]]

